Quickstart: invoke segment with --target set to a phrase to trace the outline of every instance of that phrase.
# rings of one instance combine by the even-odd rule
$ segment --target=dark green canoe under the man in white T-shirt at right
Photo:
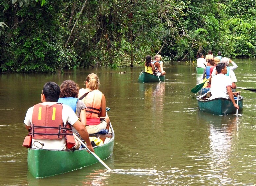
[[[216,98],[213,100],[201,100],[199,97],[197,97],[197,103],[198,103],[199,110],[216,114],[216,115],[235,114],[237,110],[234,107],[232,101],[226,98]],[[243,108],[242,96],[239,96],[238,105],[239,105],[238,111],[241,111]]]

